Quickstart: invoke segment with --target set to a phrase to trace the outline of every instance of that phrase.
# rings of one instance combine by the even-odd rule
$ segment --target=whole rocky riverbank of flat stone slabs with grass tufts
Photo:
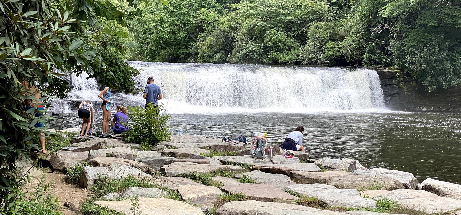
[[[73,137],[37,159],[88,191],[71,206],[83,215],[461,215],[461,185],[302,152],[254,159],[249,146],[173,135],[142,151],[118,135]]]

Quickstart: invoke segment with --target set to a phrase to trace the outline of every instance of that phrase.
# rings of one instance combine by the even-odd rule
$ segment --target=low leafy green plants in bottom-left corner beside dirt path
[[[8,202],[8,210],[0,210],[0,215],[62,215],[59,201],[53,198],[51,185],[41,178],[29,193],[21,190],[12,192],[13,201]]]

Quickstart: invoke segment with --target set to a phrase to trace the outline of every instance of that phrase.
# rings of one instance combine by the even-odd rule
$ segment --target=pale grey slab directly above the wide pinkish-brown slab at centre
[[[277,188],[285,189],[287,186],[296,185],[290,177],[283,174],[270,174],[261,171],[251,171],[249,173],[241,173],[236,175],[236,177],[241,177],[242,175],[247,175],[250,179],[253,179],[258,184],[270,184],[274,185]]]

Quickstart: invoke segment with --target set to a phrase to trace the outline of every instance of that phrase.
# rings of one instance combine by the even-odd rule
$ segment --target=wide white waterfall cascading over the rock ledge
[[[162,90],[160,100],[170,113],[317,112],[384,109],[376,71],[363,68],[180,64],[128,61],[141,70],[134,78],[144,88],[149,76]],[[94,79],[68,77],[68,100],[94,100]],[[138,96],[115,95],[128,105],[142,105]],[[114,100],[116,100],[114,98]]]

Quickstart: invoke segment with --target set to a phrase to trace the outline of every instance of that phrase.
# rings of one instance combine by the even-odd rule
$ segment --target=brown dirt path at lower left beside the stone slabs
[[[76,215],[74,211],[64,207],[63,204],[65,202],[71,202],[78,207],[87,197],[88,190],[65,182],[65,174],[58,171],[54,171],[54,173],[45,173],[45,176],[47,182],[53,184],[53,197],[58,198],[61,211],[65,215]]]

